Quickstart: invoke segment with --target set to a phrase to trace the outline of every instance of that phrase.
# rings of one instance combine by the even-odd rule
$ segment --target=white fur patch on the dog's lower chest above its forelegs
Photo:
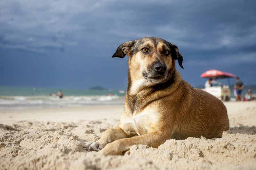
[[[159,114],[156,109],[145,108],[139,113],[133,113],[132,116],[121,116],[121,128],[128,134],[144,135],[159,120]]]

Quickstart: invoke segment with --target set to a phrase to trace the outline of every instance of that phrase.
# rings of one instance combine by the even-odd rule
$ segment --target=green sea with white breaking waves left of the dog
[[[61,90],[63,98],[58,97]],[[0,109],[123,105],[123,90],[72,90],[37,87],[0,87]]]

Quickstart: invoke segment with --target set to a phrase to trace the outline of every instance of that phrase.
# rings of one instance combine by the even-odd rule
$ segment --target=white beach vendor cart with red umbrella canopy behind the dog
[[[220,83],[216,83],[215,86],[209,85],[206,86],[204,89],[205,92],[208,92],[212,94],[213,96],[217,97],[220,100],[223,101],[229,101],[230,99],[230,80],[229,78],[235,78],[236,76],[231,73],[223,72],[220,70],[208,70],[205,71],[200,76],[201,78],[208,78],[209,80],[212,79],[220,79],[220,78],[228,78],[228,85],[221,85]],[[207,82],[206,82],[207,83]]]

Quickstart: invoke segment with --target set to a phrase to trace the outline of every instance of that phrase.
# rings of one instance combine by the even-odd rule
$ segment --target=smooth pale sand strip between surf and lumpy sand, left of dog
[[[119,119],[123,105],[88,105],[78,107],[25,108],[0,110],[0,124],[19,121],[77,122],[83,120],[106,119],[108,122]]]

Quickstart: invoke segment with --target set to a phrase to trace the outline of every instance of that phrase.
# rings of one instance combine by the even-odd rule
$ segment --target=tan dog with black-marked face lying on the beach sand
[[[183,56],[173,43],[145,37],[121,44],[112,57],[128,55],[128,87],[118,126],[107,129],[88,151],[118,155],[132,145],[157,148],[168,139],[221,137],[229,129],[224,104],[182,80]]]

